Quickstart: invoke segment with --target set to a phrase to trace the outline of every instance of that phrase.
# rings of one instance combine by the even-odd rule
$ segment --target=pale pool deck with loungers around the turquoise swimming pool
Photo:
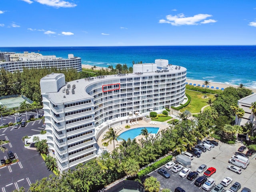
[[[168,121],[170,121],[170,120],[168,120]],[[115,130],[118,134],[121,134],[122,132],[125,132],[125,131],[130,130],[130,129],[133,129],[133,128],[140,128],[140,127],[158,127],[158,128],[159,128],[159,131],[161,131],[161,130],[164,130],[164,129],[166,129],[166,128],[169,127],[167,121],[166,121],[166,122],[152,121],[152,122],[156,122],[156,125],[155,125],[155,124],[154,124],[154,125],[153,125],[153,124],[150,124],[149,122],[145,122],[144,120],[139,120],[139,121],[138,121],[139,124],[132,125],[132,126],[131,126],[130,128],[128,128],[128,129],[126,129],[125,126],[126,126],[126,125],[129,125],[129,124],[122,124],[122,128],[119,129],[119,130],[115,130],[116,127],[113,127],[113,128],[114,128],[114,130]],[[106,131],[108,131],[108,130],[106,130]],[[100,135],[100,137],[99,137],[97,143],[98,143],[98,145],[100,146],[100,148],[102,148],[102,150],[108,150],[108,151],[111,152],[112,150],[114,150],[113,141],[111,142],[111,144],[110,144],[110,142],[109,142],[108,146],[106,146],[106,147],[105,147],[105,146],[102,146],[102,143],[108,141],[108,140],[103,141],[103,142],[101,141],[105,133],[106,133],[106,132],[104,132],[104,133],[102,133],[102,134]],[[144,137],[145,137],[145,136],[139,135],[139,136],[136,137],[136,140],[138,141],[139,139],[144,138]],[[120,142],[122,142],[122,141],[114,141],[114,142],[115,142],[115,148],[116,148],[116,147],[118,146],[118,144],[119,144]]]

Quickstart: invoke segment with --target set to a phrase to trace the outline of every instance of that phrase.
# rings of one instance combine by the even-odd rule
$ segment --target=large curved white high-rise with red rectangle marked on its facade
[[[185,98],[186,68],[157,59],[134,64],[133,73],[65,82],[64,74],[40,80],[49,152],[61,171],[88,162],[97,140],[112,126],[162,112]]]

